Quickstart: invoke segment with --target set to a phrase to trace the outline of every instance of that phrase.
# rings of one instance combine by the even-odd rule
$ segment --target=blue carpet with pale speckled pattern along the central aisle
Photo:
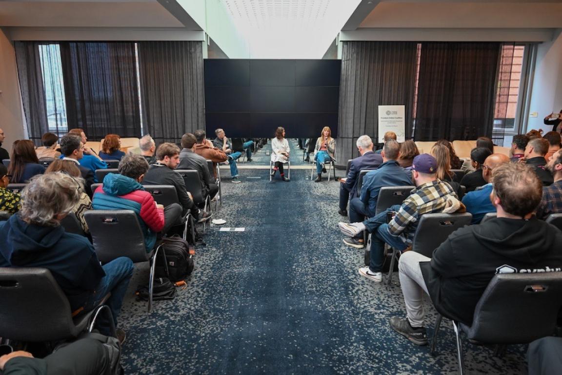
[[[293,156],[302,161],[302,151]],[[241,170],[242,183],[233,184],[223,173],[215,218],[246,231],[208,228],[187,288],[156,301],[151,314],[133,296],[148,279],[139,265],[119,317],[126,373],[456,373],[448,320],[434,358],[389,327],[390,317],[405,315],[397,275],[387,287],[357,274],[363,251],[344,245],[337,229],[339,182],[314,183],[310,171],[293,170],[291,182],[276,175],[270,183],[266,170]],[[435,310],[427,303],[426,311],[433,327]],[[463,344],[470,373],[527,372],[526,346],[495,358],[488,347]]]

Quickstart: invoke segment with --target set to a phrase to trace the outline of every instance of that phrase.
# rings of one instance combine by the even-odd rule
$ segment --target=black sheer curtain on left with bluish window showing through
[[[140,137],[135,44],[61,42],[68,127]]]

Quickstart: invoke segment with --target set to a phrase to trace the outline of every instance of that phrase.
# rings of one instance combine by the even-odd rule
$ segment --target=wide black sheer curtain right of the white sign
[[[416,141],[492,136],[500,43],[424,42]]]

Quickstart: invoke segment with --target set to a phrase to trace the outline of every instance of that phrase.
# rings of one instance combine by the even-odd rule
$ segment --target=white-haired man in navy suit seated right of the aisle
[[[339,179],[339,211],[342,216],[347,216],[347,202],[356,196],[357,177],[362,169],[376,169],[383,164],[383,157],[373,152],[373,141],[369,135],[357,138],[357,150],[361,156],[351,160],[347,178]]]

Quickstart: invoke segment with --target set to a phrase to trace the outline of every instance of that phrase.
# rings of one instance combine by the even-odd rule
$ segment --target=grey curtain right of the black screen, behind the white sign
[[[339,89],[338,165],[359,156],[355,142],[378,139],[378,106],[406,106],[406,138],[412,121],[416,42],[343,42]]]

